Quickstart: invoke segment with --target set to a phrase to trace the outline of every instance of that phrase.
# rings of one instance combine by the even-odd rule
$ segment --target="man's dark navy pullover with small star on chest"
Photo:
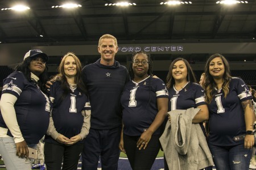
[[[85,66],[82,74],[92,107],[90,128],[104,130],[121,127],[120,97],[130,79],[126,67],[117,61],[113,66],[105,66],[98,59]]]

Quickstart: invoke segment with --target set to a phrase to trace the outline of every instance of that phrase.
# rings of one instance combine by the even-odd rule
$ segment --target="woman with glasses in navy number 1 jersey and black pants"
[[[160,129],[168,109],[168,92],[161,79],[152,78],[152,61],[144,52],[131,58],[128,82],[121,96],[123,130],[119,148],[131,168],[151,169],[160,149]]]

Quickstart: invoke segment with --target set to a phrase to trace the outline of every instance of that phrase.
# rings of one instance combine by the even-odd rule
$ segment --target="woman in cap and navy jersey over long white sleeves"
[[[30,50],[24,61],[3,80],[0,101],[0,154],[7,169],[30,170],[28,147],[44,136],[49,125],[50,104],[46,93],[48,56]]]

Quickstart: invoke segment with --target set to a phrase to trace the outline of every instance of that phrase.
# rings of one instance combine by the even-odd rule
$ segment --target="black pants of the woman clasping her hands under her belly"
[[[63,170],[77,170],[80,154],[84,143],[75,143],[66,146],[60,143],[47,143],[44,145],[44,163],[47,170],[61,169],[63,162]]]

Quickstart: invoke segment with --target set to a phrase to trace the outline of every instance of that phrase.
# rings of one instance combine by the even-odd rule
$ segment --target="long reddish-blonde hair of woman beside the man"
[[[77,84],[76,87],[84,94],[87,95],[87,90],[84,82],[82,81],[82,65],[79,60],[79,58],[71,52],[68,52],[65,54],[65,56],[61,59],[60,65],[59,65],[59,73],[55,76],[53,76],[52,81],[54,82],[55,80],[58,80],[61,82],[61,88],[63,90],[63,94],[61,96],[61,100],[63,100],[69,93],[71,93],[71,89],[69,87],[69,83],[67,81],[67,78],[65,76],[64,72],[64,64],[65,64],[65,59],[67,57],[73,57],[76,61],[76,75],[75,75],[75,83]]]

